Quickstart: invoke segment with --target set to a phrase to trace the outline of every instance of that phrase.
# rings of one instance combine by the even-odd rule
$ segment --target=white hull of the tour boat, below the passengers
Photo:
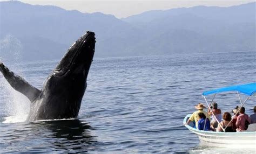
[[[184,118],[184,123],[191,116],[187,115]],[[185,125],[194,134],[197,134],[200,140],[200,145],[213,146],[221,148],[247,148],[255,149],[256,147],[256,132],[215,132],[203,131],[193,128],[192,125]]]

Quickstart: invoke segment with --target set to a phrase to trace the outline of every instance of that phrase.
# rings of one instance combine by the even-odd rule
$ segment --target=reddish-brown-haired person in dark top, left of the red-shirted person
[[[228,112],[225,112],[223,114],[223,121],[218,124],[217,131],[223,131],[223,129],[220,127],[220,125],[225,129],[225,132],[234,132],[235,130],[233,129],[233,124],[231,121],[231,114]]]

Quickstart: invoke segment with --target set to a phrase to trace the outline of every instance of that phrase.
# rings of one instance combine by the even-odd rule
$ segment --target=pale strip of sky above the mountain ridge
[[[1,0],[0,0],[1,1]],[[124,18],[131,15],[137,15],[139,13],[150,11],[150,10],[167,10],[173,8],[181,7],[192,7],[198,5],[205,6],[232,6],[240,5],[250,2],[255,2],[255,0],[119,0],[119,1],[110,1],[110,0],[32,0],[26,1],[21,0],[21,2],[29,3],[32,5],[55,5],[63,8],[65,10],[78,10],[80,12],[92,13],[92,12],[102,12],[105,14],[111,14],[117,18]]]

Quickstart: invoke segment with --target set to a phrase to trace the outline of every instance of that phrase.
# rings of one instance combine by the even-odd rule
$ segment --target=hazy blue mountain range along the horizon
[[[96,57],[256,50],[255,4],[154,10],[118,19],[0,2],[0,57],[17,46],[22,60],[60,59],[87,30],[96,33]]]

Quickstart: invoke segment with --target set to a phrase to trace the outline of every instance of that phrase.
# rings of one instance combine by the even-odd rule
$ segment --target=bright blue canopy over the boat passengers
[[[230,87],[210,90],[210,91],[204,92],[203,95],[218,94],[221,92],[231,92],[231,91],[238,91],[240,93],[244,93],[246,95],[251,96],[256,92],[256,83],[248,83],[246,85],[237,85],[237,86],[230,86]]]

